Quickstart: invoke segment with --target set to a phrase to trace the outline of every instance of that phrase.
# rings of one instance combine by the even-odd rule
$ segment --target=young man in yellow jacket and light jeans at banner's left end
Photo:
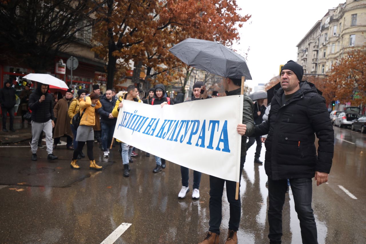
[[[138,103],[142,103],[140,99],[137,98],[137,88],[134,85],[130,85],[127,87],[126,92],[119,92],[117,93],[118,100],[116,101],[116,105],[113,108],[112,115],[114,118],[118,117],[120,109],[123,107],[123,100],[128,101],[135,101]],[[117,140],[120,143],[121,149],[121,156],[122,156],[122,163],[123,163],[123,176],[129,177],[130,176],[130,162],[134,162],[131,159],[132,147],[127,143]]]

